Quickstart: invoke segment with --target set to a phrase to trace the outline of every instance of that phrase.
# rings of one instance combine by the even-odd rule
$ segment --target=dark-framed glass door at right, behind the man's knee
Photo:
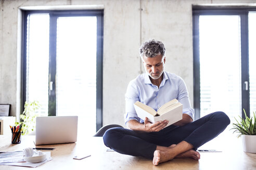
[[[221,110],[256,110],[256,9],[193,8],[196,119]]]

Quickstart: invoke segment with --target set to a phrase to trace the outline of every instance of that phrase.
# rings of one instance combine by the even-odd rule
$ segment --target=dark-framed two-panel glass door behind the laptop
[[[81,136],[103,124],[103,10],[25,11],[23,98],[39,116],[79,116]]]

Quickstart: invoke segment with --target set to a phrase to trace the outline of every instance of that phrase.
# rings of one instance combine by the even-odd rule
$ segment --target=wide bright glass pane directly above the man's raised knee
[[[201,117],[224,111],[229,117],[241,110],[240,18],[200,16]]]

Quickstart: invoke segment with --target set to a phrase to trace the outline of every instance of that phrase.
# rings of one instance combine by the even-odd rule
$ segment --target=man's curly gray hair
[[[165,48],[161,41],[151,39],[146,41],[139,49],[140,57],[143,59],[144,55],[149,58],[153,58],[157,55],[165,55]]]

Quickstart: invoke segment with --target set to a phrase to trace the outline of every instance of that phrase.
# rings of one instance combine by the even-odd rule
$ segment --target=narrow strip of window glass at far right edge
[[[256,13],[249,13],[250,115],[256,112]]]

